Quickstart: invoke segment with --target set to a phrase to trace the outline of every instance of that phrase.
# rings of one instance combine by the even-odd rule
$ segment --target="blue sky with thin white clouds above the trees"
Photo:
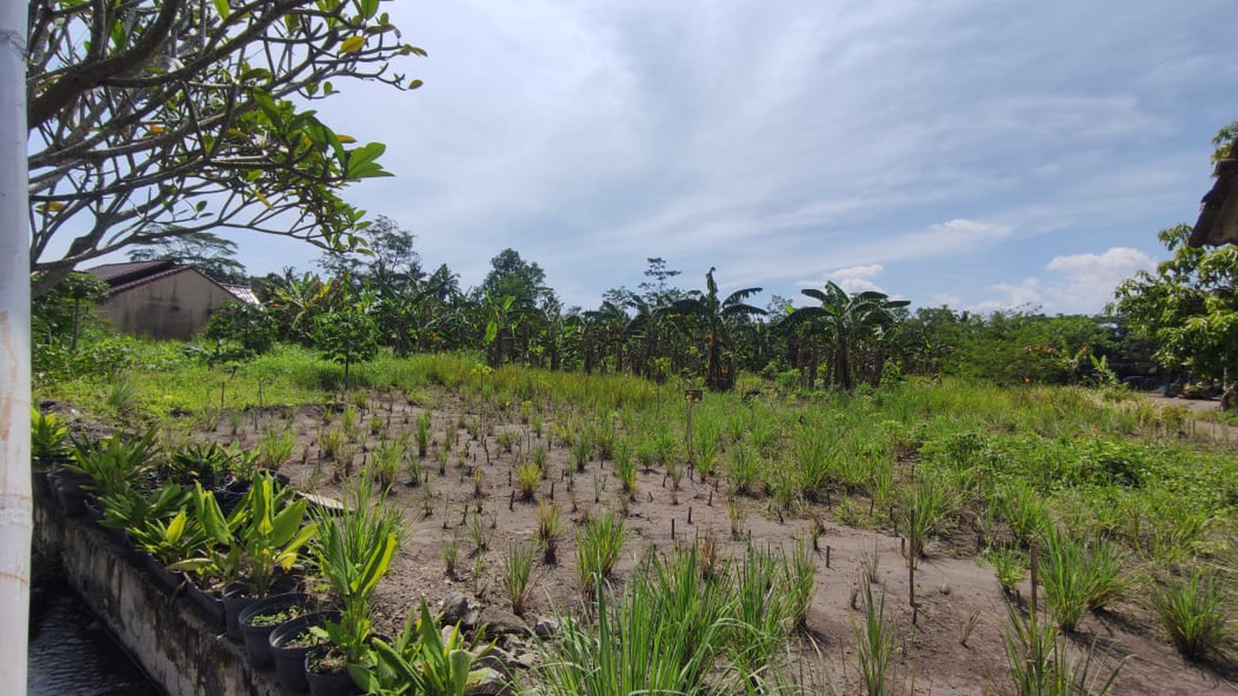
[[[1238,119],[1232,0],[384,5],[428,52],[316,104],[394,177],[345,198],[468,287],[506,247],[567,305],[635,288],[1096,313],[1193,223]],[[235,237],[251,273],[313,247]]]

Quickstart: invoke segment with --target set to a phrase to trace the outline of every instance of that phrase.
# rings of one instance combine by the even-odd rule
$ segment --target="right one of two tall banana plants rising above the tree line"
[[[891,300],[885,293],[867,291],[848,295],[833,281],[828,281],[821,291],[806,288],[800,291],[821,303],[820,307],[801,307],[787,319],[791,326],[808,323],[815,331],[831,344],[829,378],[836,387],[848,392],[855,386],[851,354],[858,341],[865,337],[880,337],[894,323],[894,309],[911,304],[910,300]]]

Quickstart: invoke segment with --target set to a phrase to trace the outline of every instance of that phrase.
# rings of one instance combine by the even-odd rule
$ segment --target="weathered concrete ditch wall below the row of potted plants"
[[[68,584],[168,695],[281,694],[274,675],[249,666],[243,645],[210,629],[184,597],[158,588],[90,520],[36,497],[35,548],[62,559]]]

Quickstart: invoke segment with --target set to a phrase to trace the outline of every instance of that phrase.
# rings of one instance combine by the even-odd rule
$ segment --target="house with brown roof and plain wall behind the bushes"
[[[104,263],[85,272],[108,283],[100,309],[126,334],[188,340],[225,302],[258,304],[249,288],[217,282],[176,261]]]

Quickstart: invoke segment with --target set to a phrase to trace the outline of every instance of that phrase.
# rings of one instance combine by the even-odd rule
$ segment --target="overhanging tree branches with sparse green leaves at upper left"
[[[303,105],[337,78],[420,87],[391,61],[425,51],[379,0],[28,1],[36,295],[83,261],[186,231],[363,242],[364,211],[340,189],[386,176],[385,148]]]

